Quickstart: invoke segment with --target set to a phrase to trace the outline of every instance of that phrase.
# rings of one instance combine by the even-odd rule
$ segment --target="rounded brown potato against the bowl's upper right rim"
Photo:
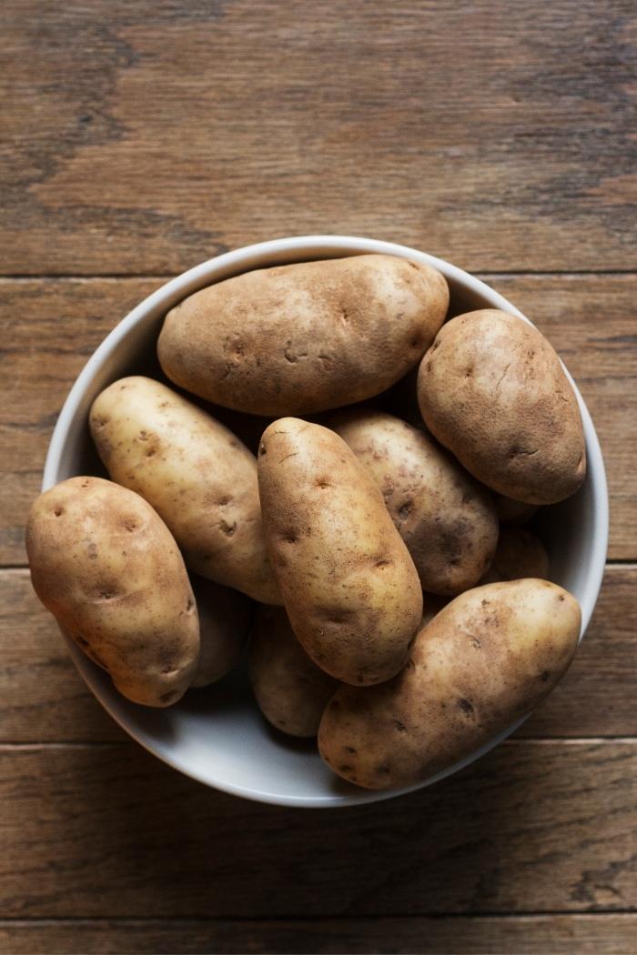
[[[495,308],[438,332],[418,371],[427,427],[488,487],[552,504],[581,487],[584,427],[557,354],[538,329]]]

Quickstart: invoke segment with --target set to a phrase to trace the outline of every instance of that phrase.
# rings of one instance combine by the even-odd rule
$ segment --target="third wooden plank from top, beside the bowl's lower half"
[[[637,567],[608,567],[572,668],[519,736],[637,736],[635,617]],[[77,674],[28,572],[0,572],[0,743],[126,738]]]

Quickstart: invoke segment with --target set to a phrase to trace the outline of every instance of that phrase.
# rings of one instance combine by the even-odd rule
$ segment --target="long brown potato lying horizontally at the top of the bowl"
[[[169,311],[159,363],[216,404],[309,414],[389,388],[420,360],[448,306],[439,272],[393,256],[258,269]]]

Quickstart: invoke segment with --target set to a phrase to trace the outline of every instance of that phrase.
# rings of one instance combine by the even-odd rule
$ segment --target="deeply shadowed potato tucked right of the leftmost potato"
[[[199,665],[191,687],[207,687],[221,680],[244,655],[254,604],[238,590],[194,574],[190,583],[199,611],[201,639]]]

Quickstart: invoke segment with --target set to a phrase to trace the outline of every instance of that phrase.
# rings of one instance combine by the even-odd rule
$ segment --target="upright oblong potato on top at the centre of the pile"
[[[422,591],[372,476],[341,437],[298,418],[266,429],[258,460],[265,540],[296,636],[337,680],[388,680]]]

